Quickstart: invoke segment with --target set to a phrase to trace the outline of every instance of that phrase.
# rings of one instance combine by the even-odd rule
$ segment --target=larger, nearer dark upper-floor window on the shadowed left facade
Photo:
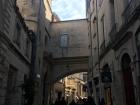
[[[21,27],[19,23],[17,23],[13,41],[18,47],[20,47],[20,38],[21,38]]]

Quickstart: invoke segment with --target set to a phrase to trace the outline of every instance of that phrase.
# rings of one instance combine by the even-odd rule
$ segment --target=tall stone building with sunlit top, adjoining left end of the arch
[[[50,22],[52,21],[51,0],[21,0],[18,2],[20,12],[24,17],[26,25],[33,30],[36,36],[34,72],[36,75],[36,93],[34,105],[48,103],[50,86],[48,75],[50,75],[51,55],[47,51],[50,35]],[[47,83],[46,83],[47,82]]]

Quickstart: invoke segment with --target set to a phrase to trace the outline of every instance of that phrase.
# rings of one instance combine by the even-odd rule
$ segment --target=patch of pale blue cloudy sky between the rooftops
[[[52,0],[52,11],[61,20],[82,19],[86,16],[85,0]]]

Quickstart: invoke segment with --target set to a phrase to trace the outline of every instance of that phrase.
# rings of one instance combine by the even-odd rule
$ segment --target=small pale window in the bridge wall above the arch
[[[60,47],[67,48],[68,47],[68,34],[64,33],[60,36]]]

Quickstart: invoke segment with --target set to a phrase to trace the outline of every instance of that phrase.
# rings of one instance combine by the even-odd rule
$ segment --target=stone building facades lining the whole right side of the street
[[[96,103],[140,104],[139,0],[87,0],[89,83]]]

